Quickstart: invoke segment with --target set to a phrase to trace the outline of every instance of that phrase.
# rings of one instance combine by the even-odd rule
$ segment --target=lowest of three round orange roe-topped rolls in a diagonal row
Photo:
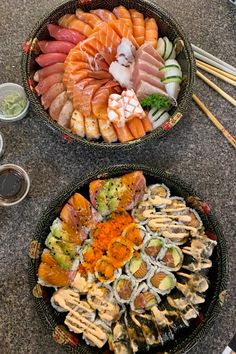
[[[96,263],[95,276],[102,283],[111,283],[121,274],[121,269],[116,269],[107,256],[102,256]]]

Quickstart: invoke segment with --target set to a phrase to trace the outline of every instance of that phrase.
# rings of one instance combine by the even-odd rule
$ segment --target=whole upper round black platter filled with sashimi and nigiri
[[[51,127],[90,146],[121,147],[170,130],[191,99],[188,40],[146,1],[70,1],[24,45],[27,96]]]

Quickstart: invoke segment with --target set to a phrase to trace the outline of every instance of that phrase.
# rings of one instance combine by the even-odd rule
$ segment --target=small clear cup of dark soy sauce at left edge
[[[6,164],[0,166],[0,206],[20,203],[28,194],[30,179],[22,167]]]

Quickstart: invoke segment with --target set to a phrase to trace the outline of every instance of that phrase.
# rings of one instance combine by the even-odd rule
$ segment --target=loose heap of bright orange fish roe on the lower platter
[[[91,246],[86,249],[83,254],[84,262],[82,263],[83,268],[81,269],[94,273],[96,263],[102,258],[102,256],[106,255],[108,247],[112,241],[117,240],[127,225],[133,222],[134,220],[132,216],[127,212],[124,212],[121,214],[114,213],[108,220],[98,223],[92,234]],[[112,263],[112,265],[115,268],[120,267],[120,263]]]

